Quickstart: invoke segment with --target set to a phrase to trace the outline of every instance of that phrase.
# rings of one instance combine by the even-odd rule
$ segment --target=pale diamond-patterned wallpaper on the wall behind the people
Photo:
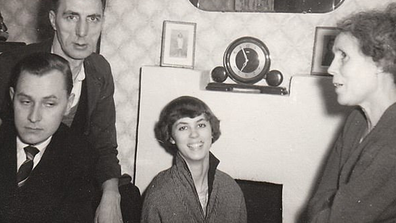
[[[39,4],[43,1],[0,0],[0,11],[10,30],[9,41],[31,43],[47,32],[45,22],[33,22],[47,18],[40,14],[46,7]],[[291,76],[310,73],[316,26],[333,26],[345,15],[384,7],[389,2],[396,0],[345,0],[331,13],[287,14],[207,12],[196,9],[188,0],[108,0],[101,52],[111,63],[115,78],[123,171],[133,173],[140,67],[159,65],[164,20],[197,23],[195,69],[208,72],[222,65],[224,50],[234,39],[261,39],[270,50],[271,69],[283,73],[282,85],[287,87]]]

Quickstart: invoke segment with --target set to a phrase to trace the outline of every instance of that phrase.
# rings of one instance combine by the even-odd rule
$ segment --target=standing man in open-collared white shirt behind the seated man
[[[114,82],[109,63],[95,53],[104,21],[104,0],[52,0],[49,19],[55,30],[53,40],[21,47],[0,56],[1,119],[4,121],[11,117],[6,92],[12,67],[20,58],[39,51],[65,58],[73,74],[75,100],[63,122],[74,132],[86,136],[99,156],[96,178],[103,192],[95,221],[122,222]]]

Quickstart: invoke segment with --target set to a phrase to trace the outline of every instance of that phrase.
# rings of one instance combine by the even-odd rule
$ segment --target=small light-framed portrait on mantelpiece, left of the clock
[[[161,66],[194,68],[196,23],[165,20]]]

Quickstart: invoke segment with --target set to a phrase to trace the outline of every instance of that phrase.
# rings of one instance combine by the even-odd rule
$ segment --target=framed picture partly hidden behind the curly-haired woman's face
[[[327,69],[334,58],[332,48],[337,34],[335,27],[316,27],[311,74],[328,75]]]

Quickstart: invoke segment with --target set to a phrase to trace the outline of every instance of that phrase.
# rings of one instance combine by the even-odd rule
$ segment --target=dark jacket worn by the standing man
[[[35,52],[51,52],[52,39],[42,43],[19,47],[0,55],[0,115],[11,117],[9,81],[11,70],[23,57]],[[87,86],[87,111],[82,129],[88,141],[97,150],[99,160],[96,177],[99,185],[111,178],[121,176],[117,158],[115,128],[114,81],[109,63],[104,57],[93,53],[84,60],[85,85]],[[74,124],[74,123],[73,123]],[[73,126],[72,126],[73,127]],[[76,131],[76,130],[73,130]],[[80,131],[80,129],[77,129]]]

